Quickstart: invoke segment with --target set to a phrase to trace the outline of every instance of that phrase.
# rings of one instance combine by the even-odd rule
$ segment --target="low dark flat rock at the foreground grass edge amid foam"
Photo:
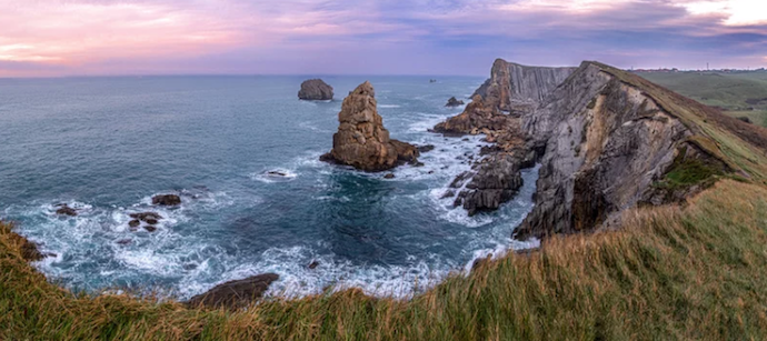
[[[236,280],[218,284],[208,292],[191,298],[187,305],[241,309],[260,299],[269,285],[279,279],[276,273],[253,275],[243,280]]]

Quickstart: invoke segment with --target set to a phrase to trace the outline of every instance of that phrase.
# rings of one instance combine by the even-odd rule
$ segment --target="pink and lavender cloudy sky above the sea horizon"
[[[0,77],[767,67],[767,0],[0,0]]]

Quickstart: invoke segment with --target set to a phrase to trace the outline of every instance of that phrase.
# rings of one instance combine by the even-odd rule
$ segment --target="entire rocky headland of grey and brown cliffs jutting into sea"
[[[699,124],[741,122],[710,111],[598,62],[536,68],[496,60],[466,110],[434,129],[494,143],[445,197],[470,215],[498,209],[521,187],[519,170],[539,162],[536,205],[516,238],[618,225],[626,209],[685,200],[735,170]]]

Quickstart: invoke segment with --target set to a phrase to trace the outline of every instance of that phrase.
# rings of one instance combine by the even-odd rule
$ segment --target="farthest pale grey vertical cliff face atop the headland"
[[[576,68],[527,67],[497,59],[488,79],[477,91],[486,107],[522,114],[544,102]]]

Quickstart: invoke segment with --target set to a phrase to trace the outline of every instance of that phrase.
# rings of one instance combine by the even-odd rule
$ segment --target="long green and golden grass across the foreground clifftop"
[[[546,240],[410,301],[357,290],[247,311],[76,295],[46,281],[0,228],[2,340],[764,340],[767,188],[723,180],[624,229]]]

